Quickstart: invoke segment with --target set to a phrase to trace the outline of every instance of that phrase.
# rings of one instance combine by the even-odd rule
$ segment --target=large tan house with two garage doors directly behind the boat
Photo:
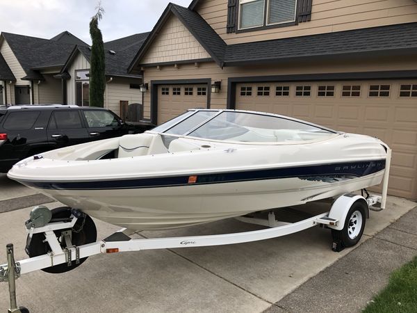
[[[389,192],[417,199],[414,0],[170,3],[129,72],[157,124],[248,109],[377,136],[393,148]]]

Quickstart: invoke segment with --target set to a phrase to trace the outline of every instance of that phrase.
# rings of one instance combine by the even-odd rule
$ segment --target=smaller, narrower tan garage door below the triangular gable
[[[206,108],[207,85],[158,86],[158,124],[162,124],[188,109]]]

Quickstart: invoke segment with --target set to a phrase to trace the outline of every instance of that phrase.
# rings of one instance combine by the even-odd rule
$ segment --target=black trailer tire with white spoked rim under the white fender
[[[352,204],[345,219],[342,230],[332,230],[334,243],[341,244],[341,248],[352,247],[361,240],[366,223],[366,204],[357,201]]]

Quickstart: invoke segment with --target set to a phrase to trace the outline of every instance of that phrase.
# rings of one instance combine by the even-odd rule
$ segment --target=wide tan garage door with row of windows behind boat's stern
[[[241,83],[236,109],[375,136],[393,149],[389,193],[417,200],[417,81]]]

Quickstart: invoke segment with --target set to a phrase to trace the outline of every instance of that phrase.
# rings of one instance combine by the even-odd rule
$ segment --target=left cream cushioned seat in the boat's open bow
[[[117,156],[126,158],[146,155],[152,139],[154,139],[152,134],[124,135],[120,137]]]

